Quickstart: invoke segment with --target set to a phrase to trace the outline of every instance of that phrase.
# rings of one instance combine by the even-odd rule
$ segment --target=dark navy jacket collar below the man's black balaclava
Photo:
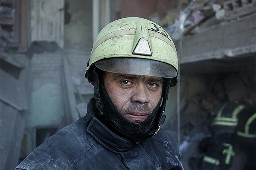
[[[107,126],[97,119],[93,114],[93,100],[87,105],[87,133],[89,133],[102,146],[113,152],[130,150],[134,145],[126,138],[113,133]]]

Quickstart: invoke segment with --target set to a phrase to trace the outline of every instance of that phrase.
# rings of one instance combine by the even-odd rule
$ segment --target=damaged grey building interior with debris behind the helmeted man
[[[198,146],[224,105],[236,102],[255,113],[255,0],[0,2],[3,170],[14,169],[47,137],[86,114],[93,86],[84,71],[93,40],[123,17],[150,19],[175,42],[180,82],[170,89],[162,127],[177,140],[186,170],[202,166]],[[255,135],[255,120],[251,126]],[[251,149],[255,157],[255,145]],[[232,161],[228,167],[236,165]]]

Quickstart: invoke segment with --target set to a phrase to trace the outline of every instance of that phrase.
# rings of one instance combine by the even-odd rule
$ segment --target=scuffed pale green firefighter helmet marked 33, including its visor
[[[105,26],[87,64],[89,82],[94,66],[119,74],[173,78],[171,86],[177,84],[177,51],[171,37],[161,26],[143,18],[122,18]]]

